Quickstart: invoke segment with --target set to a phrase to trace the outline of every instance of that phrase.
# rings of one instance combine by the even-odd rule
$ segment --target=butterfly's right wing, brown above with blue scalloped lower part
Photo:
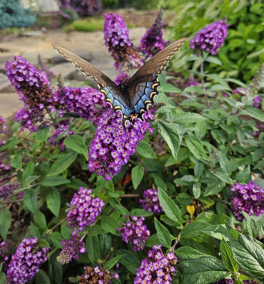
[[[165,70],[172,55],[180,49],[185,41],[186,38],[182,38],[163,48],[128,81],[126,88],[129,92],[131,106],[140,118],[147,106],[154,103],[154,97],[158,94],[158,75]]]

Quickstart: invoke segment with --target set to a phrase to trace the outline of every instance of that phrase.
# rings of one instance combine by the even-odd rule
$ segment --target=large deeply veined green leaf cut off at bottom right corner
[[[254,279],[264,282],[264,248],[241,233],[227,230],[234,259]]]

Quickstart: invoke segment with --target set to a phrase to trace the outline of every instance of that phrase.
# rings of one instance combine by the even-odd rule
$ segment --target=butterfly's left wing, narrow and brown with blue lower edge
[[[127,98],[124,97],[122,91],[109,77],[107,77],[94,65],[84,60],[80,56],[74,54],[73,52],[67,50],[66,48],[54,44],[52,44],[52,46],[63,57],[72,62],[78,70],[97,82],[99,90],[104,95],[106,102],[109,102],[111,104],[114,111],[120,110],[122,112],[122,115],[125,115],[127,117],[130,116],[129,108],[126,102]]]

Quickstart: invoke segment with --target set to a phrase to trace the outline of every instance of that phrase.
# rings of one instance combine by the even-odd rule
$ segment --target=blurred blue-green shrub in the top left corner
[[[30,9],[20,6],[19,0],[0,0],[0,29],[29,27],[36,22]]]

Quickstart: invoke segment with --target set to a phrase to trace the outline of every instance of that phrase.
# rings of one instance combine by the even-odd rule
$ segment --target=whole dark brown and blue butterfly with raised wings
[[[127,120],[132,122],[133,116],[142,119],[148,105],[154,103],[154,97],[158,94],[158,75],[166,68],[172,55],[179,50],[184,41],[186,38],[179,39],[159,51],[137,70],[126,85],[116,85],[91,63],[66,48],[54,44],[52,46],[78,70],[97,82],[106,102],[111,104],[114,111],[121,111],[125,125],[124,122]]]

